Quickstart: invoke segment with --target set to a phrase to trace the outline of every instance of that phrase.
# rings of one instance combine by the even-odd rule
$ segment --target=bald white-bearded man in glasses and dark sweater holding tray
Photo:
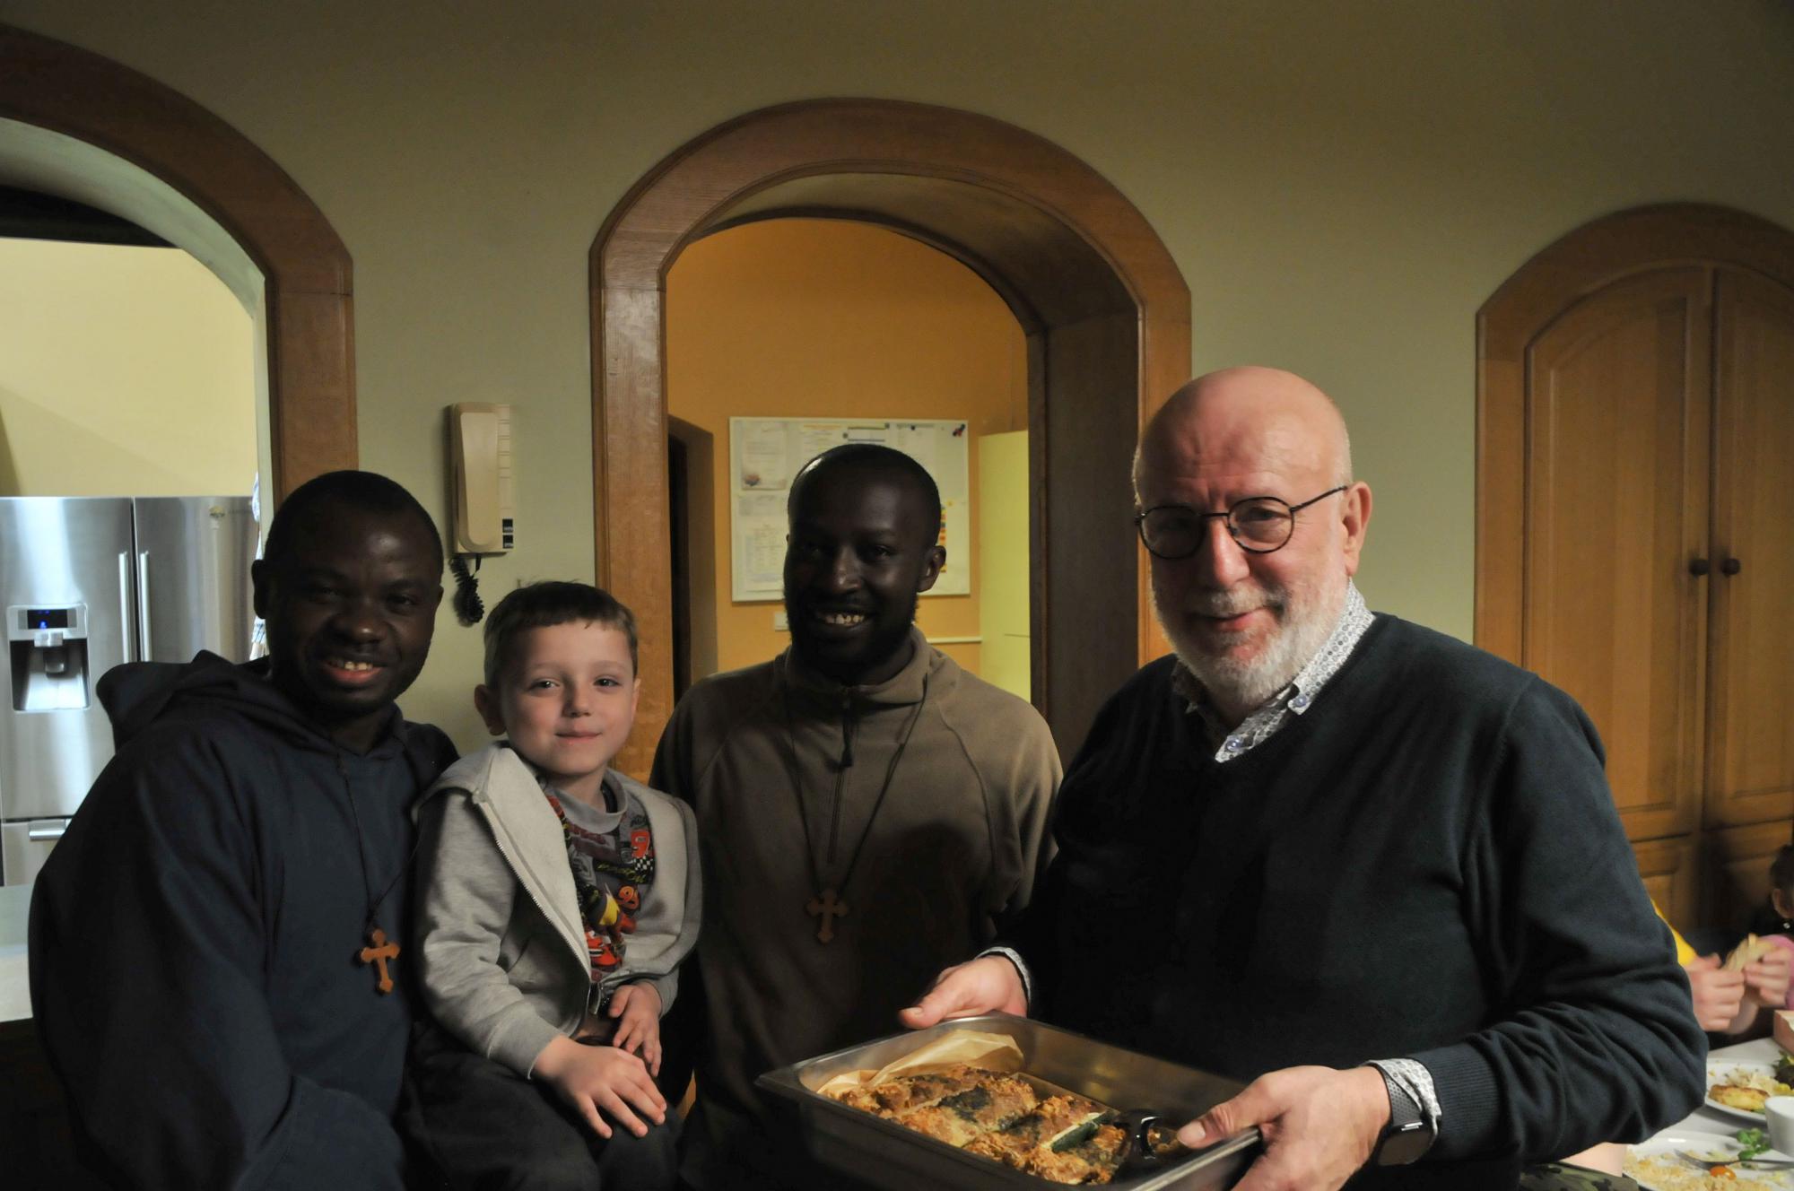
[[[1182,1132],[1263,1130],[1240,1191],[1514,1187],[1692,1110],[1704,1039],[1593,725],[1365,608],[1371,488],[1333,402],[1267,368],[1193,380],[1134,486],[1175,655],[1067,769],[1012,952],[904,1021],[1032,1012],[1250,1080]]]

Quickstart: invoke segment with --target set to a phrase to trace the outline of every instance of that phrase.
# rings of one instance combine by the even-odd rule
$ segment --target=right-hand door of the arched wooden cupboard
[[[1733,825],[1794,814],[1794,291],[1722,269],[1717,310],[1706,818]]]

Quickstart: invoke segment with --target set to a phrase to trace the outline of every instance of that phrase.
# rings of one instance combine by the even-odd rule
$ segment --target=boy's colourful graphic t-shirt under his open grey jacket
[[[623,965],[628,936],[655,881],[655,839],[648,811],[605,777],[605,807],[567,798],[547,782],[542,793],[567,836],[585,947],[592,956],[592,983],[599,985]],[[594,1006],[603,1008],[603,1006]]]

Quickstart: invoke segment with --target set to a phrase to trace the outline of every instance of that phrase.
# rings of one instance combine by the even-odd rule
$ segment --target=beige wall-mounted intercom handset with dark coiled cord
[[[448,405],[448,522],[456,578],[454,610],[477,624],[484,606],[466,560],[504,554],[515,545],[517,484],[511,470],[511,407],[488,402]]]

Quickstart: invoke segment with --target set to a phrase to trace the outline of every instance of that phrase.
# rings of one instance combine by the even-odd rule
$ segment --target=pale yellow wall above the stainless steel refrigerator
[[[249,495],[249,330],[183,251],[0,239],[0,495]]]

